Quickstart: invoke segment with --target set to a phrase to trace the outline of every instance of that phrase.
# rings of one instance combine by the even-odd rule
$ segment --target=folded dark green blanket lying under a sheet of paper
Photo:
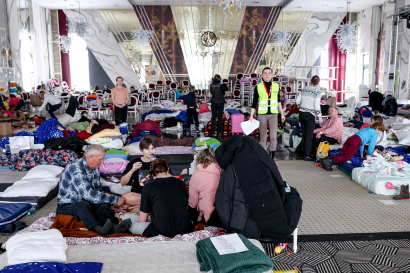
[[[201,271],[225,272],[265,272],[273,268],[273,262],[262,250],[243,235],[238,234],[245,246],[245,252],[219,255],[210,238],[196,243],[196,258]]]

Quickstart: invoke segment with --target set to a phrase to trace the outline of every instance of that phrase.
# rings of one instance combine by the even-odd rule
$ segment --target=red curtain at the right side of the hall
[[[343,23],[347,23],[347,15],[342,21]],[[336,33],[336,32],[335,32]],[[339,51],[337,47],[337,43],[335,40],[335,35],[329,40],[329,67],[339,67],[336,68],[335,72],[335,81],[330,82],[330,89],[335,89],[336,91],[343,91],[345,90],[346,86],[346,54],[343,54]],[[332,76],[330,72],[330,77]],[[336,100],[342,101],[343,100],[343,93],[338,92]]]

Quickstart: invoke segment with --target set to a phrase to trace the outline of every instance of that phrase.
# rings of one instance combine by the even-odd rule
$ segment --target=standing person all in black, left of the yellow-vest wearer
[[[225,88],[221,84],[221,76],[216,74],[213,78],[209,91],[212,94],[211,98],[211,110],[212,110],[212,119],[211,119],[211,135],[215,137],[215,124],[216,117],[218,116],[218,138],[222,138],[222,115],[224,113],[224,104],[225,104]]]

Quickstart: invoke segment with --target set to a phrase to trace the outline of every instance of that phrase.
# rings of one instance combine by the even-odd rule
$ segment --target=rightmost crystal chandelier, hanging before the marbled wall
[[[349,15],[349,4],[350,2],[347,1],[347,15]],[[336,43],[339,51],[342,54],[346,54],[348,51],[353,51],[356,48],[356,26],[357,22],[347,24],[343,23],[337,28],[336,32]]]

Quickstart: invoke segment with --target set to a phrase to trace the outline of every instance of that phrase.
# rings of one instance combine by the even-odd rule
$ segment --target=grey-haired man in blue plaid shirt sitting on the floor
[[[65,167],[57,197],[57,215],[78,217],[89,230],[103,236],[128,232],[131,226],[130,220],[114,226],[118,220],[111,205],[121,206],[124,198],[102,190],[99,167],[104,157],[102,146],[89,146],[83,158]]]

